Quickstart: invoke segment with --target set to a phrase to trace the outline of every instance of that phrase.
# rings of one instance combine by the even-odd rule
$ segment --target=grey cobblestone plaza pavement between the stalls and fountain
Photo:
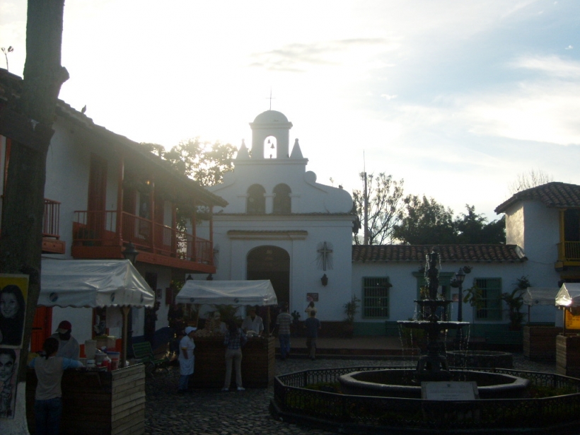
[[[287,359],[276,361],[276,374],[306,369],[351,366],[403,365],[397,359]],[[408,363],[412,364],[412,363]],[[555,364],[528,361],[514,354],[514,368],[530,371],[555,371]],[[158,374],[146,381],[146,428],[148,435],[245,435],[245,434],[312,434],[334,432],[288,424],[274,419],[268,411],[273,388],[248,388],[242,392],[222,393],[216,389],[196,389],[176,393],[179,368],[170,367],[168,375]]]

